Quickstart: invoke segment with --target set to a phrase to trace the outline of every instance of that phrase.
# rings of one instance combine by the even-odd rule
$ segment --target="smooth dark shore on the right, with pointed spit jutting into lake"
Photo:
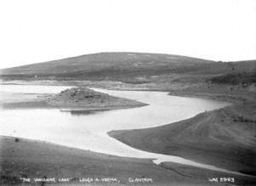
[[[253,93],[227,87],[171,90],[171,95],[215,99],[232,105],[161,127],[108,132],[137,149],[177,155],[256,175],[256,104]]]

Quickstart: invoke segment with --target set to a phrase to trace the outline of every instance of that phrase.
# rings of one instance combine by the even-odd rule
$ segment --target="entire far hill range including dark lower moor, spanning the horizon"
[[[216,76],[222,79],[223,75],[234,73],[255,76],[255,65],[256,60],[224,63],[170,54],[99,53],[2,69],[0,78],[145,83],[154,82],[152,78],[155,76],[160,76],[158,81],[162,82],[166,76],[175,75],[179,80],[198,82],[211,81]],[[164,81],[171,80],[167,77]],[[222,82],[219,78],[214,81]]]

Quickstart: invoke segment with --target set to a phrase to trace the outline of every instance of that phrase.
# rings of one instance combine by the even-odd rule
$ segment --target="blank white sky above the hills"
[[[256,59],[255,0],[1,0],[0,68],[97,52]]]

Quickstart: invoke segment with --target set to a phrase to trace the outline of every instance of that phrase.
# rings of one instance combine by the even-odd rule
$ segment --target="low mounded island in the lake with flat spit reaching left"
[[[15,98],[15,99],[14,99]],[[142,107],[148,104],[131,99],[123,99],[96,92],[87,87],[73,87],[61,93],[12,93],[3,94],[0,106],[3,109],[61,110],[115,110]]]

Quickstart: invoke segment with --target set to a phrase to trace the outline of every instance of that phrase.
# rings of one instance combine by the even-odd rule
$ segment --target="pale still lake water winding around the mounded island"
[[[0,91],[5,93],[59,93],[67,88],[32,85],[1,85],[0,87]],[[110,138],[107,134],[112,130],[165,125],[187,119],[206,110],[222,108],[228,103],[169,96],[162,92],[93,89],[116,97],[135,99],[149,105],[141,108],[106,110],[85,115],[75,115],[58,109],[1,110],[0,135],[38,139],[109,155],[150,158],[154,159],[156,164],[172,161],[228,172],[215,166],[204,165],[177,156],[160,155],[134,149]]]

